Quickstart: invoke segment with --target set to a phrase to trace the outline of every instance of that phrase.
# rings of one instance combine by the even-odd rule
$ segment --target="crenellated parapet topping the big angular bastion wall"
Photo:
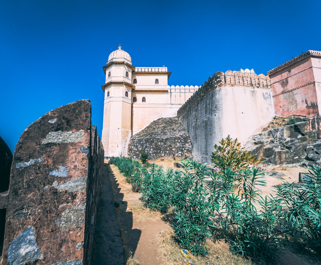
[[[198,91],[195,91],[195,93],[178,110],[177,116],[181,116],[188,108],[196,104],[212,90],[224,86],[246,86],[251,88],[271,89],[271,82],[268,76],[263,74],[257,75],[254,73],[253,69],[240,69],[240,71],[228,70],[225,73],[218,71],[214,73],[212,77],[209,77],[208,80],[199,87]]]

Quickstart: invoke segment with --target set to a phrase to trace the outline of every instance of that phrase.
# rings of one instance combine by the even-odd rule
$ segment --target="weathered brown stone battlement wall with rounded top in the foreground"
[[[89,100],[32,123],[13,156],[1,264],[89,264],[102,170]]]

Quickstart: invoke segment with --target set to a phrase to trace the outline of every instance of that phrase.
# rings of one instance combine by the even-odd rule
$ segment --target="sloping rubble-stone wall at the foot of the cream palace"
[[[177,117],[159,118],[131,137],[128,155],[135,159],[146,152],[150,160],[190,156],[192,144],[184,126]]]

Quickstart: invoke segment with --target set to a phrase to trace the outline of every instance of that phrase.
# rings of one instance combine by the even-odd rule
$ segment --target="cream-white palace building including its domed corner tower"
[[[198,86],[169,86],[167,67],[134,67],[130,55],[118,49],[108,56],[102,144],[105,157],[127,154],[130,137],[152,121],[176,116]]]

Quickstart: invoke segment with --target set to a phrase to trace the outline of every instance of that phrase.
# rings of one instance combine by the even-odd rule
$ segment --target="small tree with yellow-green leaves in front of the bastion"
[[[220,145],[215,144],[215,152],[212,153],[211,161],[222,170],[229,168],[234,171],[244,169],[248,164],[253,164],[255,156],[251,152],[243,151],[241,143],[236,138],[233,140],[230,135],[220,141]]]

